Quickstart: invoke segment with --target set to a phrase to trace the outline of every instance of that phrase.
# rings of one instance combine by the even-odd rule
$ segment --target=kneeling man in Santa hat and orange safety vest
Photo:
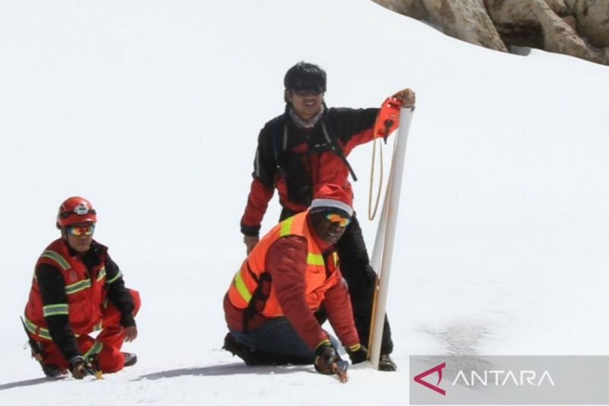
[[[309,211],[279,223],[256,244],[224,297],[225,349],[247,365],[313,363],[318,372],[333,373],[338,343],[314,315],[323,304],[351,362],[366,360],[334,247],[352,214],[350,195],[328,184]]]

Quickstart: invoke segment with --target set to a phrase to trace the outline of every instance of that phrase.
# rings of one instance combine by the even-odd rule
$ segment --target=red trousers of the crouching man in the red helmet
[[[133,296],[135,309],[133,314],[137,314],[141,301],[139,293],[136,290],[129,289]],[[124,327],[121,326],[121,313],[108,302],[108,307],[102,312],[102,331],[99,332],[97,338],[91,338],[88,335],[81,335],[76,338],[76,344],[80,349],[81,354],[97,354],[99,369],[104,373],[120,371],[125,363],[125,357],[122,355],[121,346],[125,337]],[[43,362],[46,364],[55,364],[62,369],[69,368],[69,362],[63,357],[62,352],[55,343],[40,342],[43,352]]]

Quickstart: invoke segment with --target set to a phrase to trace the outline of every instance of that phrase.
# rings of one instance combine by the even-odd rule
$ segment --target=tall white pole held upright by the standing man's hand
[[[387,192],[376,231],[375,247],[372,251],[371,265],[378,273],[376,279],[376,294],[374,313],[372,315],[370,362],[373,368],[379,368],[379,356],[381,355],[381,340],[383,323],[385,320],[385,309],[387,307],[387,293],[389,291],[389,273],[393,256],[393,241],[395,240],[396,220],[400,208],[400,191],[402,187],[402,175],[404,173],[404,157],[406,156],[406,141],[410,129],[410,120],[413,110],[402,108],[400,110],[400,128],[398,128],[395,140],[395,149],[391,160]]]

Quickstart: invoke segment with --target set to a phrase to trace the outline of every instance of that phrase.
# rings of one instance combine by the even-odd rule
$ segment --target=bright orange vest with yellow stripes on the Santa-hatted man
[[[313,311],[319,309],[325,298],[326,290],[339,282],[338,255],[336,251],[332,251],[329,255],[331,261],[326,264],[324,256],[309,230],[307,213],[301,212],[276,225],[256,244],[235,274],[228,289],[228,299],[237,309],[244,309],[244,331],[247,331],[247,320],[255,313],[264,317],[283,315],[270,275],[265,270],[267,252],[278,239],[287,236],[301,236],[307,240],[305,295],[309,309]]]

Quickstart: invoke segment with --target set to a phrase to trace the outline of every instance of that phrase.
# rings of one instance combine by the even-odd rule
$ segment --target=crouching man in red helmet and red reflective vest
[[[135,364],[121,352],[138,335],[139,293],[125,288],[108,248],[93,240],[96,211],[82,197],[65,200],[57,214],[62,236],[38,257],[24,324],[32,355],[44,374],[69,371],[76,379]],[[88,334],[100,330],[97,338]]]

